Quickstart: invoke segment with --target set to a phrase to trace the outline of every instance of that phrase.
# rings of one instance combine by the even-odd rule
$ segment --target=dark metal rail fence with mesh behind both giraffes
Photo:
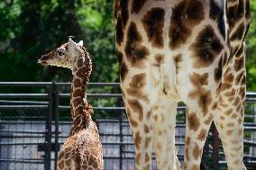
[[[71,126],[69,83],[0,83],[0,169],[56,169],[59,148]],[[10,93],[12,92],[12,93]],[[22,94],[21,94],[22,93]],[[132,131],[125,117],[122,95],[115,83],[91,83],[88,103],[104,146],[106,170],[133,170]],[[256,169],[256,93],[247,93],[244,123],[244,163]],[[184,155],[185,107],[178,107],[176,145]],[[153,158],[152,169],[156,168]],[[221,142],[210,130],[202,160],[205,169],[225,169]]]

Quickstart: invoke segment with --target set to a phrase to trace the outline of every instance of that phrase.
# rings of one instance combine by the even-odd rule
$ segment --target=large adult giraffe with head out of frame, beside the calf
[[[229,170],[242,170],[249,0],[115,0],[116,53],[136,169],[180,169],[177,102],[187,105],[185,170],[199,170],[214,121]]]

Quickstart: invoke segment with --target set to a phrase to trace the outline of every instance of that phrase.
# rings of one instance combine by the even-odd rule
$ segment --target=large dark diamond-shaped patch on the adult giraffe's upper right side
[[[190,46],[194,51],[194,67],[208,67],[224,49],[223,44],[215,35],[215,30],[208,25],[201,31],[194,44]]]

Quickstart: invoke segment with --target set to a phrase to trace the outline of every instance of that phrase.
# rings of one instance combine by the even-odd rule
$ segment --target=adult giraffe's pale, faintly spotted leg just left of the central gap
[[[177,103],[160,96],[152,109],[153,148],[160,170],[180,170],[175,149]]]

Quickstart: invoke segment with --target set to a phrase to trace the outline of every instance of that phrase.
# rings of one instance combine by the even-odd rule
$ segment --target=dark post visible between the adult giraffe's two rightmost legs
[[[219,134],[213,125],[213,154],[214,154],[214,170],[219,170]]]

